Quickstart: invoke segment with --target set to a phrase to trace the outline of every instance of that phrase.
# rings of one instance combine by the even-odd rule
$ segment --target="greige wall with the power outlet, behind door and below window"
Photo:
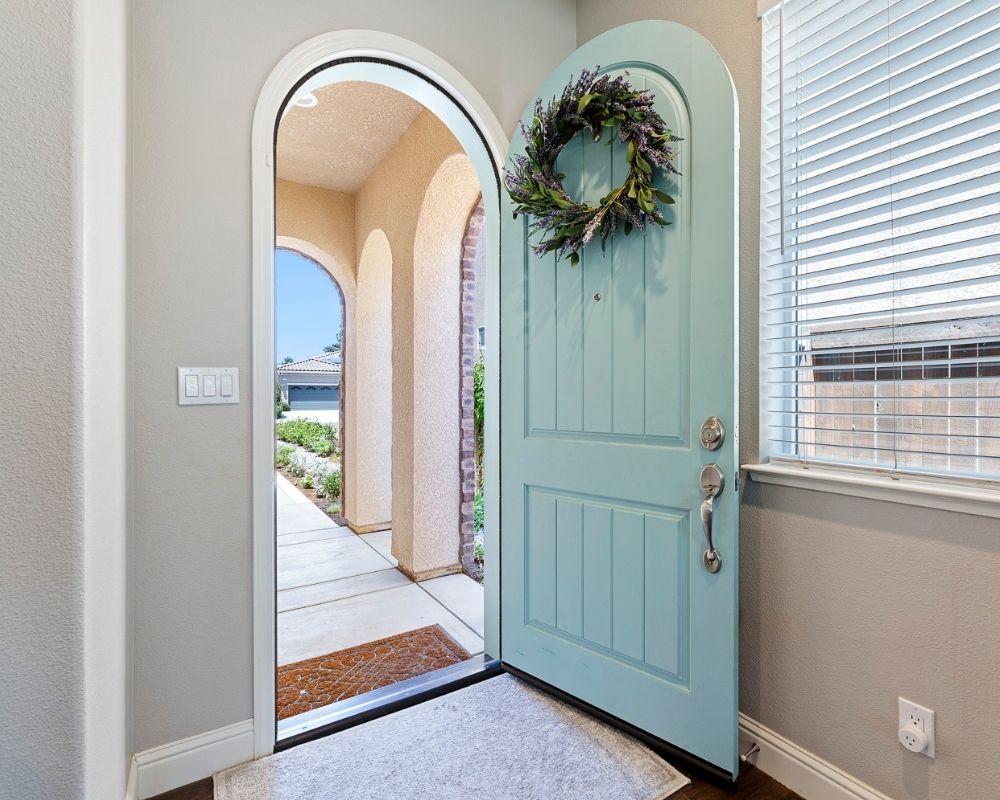
[[[580,0],[580,44],[671,19],[729,65],[741,128],[741,449],[757,456],[760,29],[754,0]],[[897,800],[1000,794],[1000,523],[750,484],[742,710]],[[936,711],[937,757],[896,741],[896,698]]]

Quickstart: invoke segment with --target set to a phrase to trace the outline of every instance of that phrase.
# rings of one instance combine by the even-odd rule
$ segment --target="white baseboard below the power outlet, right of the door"
[[[892,800],[742,713],[740,742],[756,742],[760,752],[751,763],[806,800]]]

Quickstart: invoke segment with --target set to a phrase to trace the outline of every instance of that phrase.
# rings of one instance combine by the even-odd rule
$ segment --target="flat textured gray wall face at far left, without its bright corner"
[[[73,23],[65,3],[39,0],[7,3],[0,25],[5,800],[79,797],[83,786],[82,474],[75,466],[82,456],[82,287],[73,193]],[[44,392],[37,391],[39,381]]]

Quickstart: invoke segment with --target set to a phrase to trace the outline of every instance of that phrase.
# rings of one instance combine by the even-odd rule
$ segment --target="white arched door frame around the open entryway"
[[[276,597],[274,481],[274,249],[276,126],[292,92],[328,68],[338,80],[368,80],[408,94],[448,126],[472,162],[486,210],[486,420],[484,487],[487,550],[486,652],[500,657],[500,182],[509,145],[490,106],[458,70],[430,50],[381,31],[315,36],[271,71],[254,107],[251,129],[252,458],[254,757],[274,751]],[[329,74],[329,73],[327,73]],[[329,83],[331,81],[323,81]],[[457,480],[456,476],[456,480]]]

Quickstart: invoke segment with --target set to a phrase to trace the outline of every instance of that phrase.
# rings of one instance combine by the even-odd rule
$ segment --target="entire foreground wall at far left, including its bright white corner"
[[[0,25],[4,800],[122,797],[131,754],[125,24],[40,0]]]

